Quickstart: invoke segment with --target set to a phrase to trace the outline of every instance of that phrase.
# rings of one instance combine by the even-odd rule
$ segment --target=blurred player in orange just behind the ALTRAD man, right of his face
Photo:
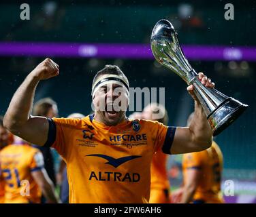
[[[162,118],[155,119],[153,114]],[[151,103],[144,108],[142,117],[146,120],[159,121],[164,125],[168,124],[168,114],[161,104]],[[153,154],[151,163],[151,185],[149,203],[170,203],[170,182],[167,176],[167,157],[162,151]]]

